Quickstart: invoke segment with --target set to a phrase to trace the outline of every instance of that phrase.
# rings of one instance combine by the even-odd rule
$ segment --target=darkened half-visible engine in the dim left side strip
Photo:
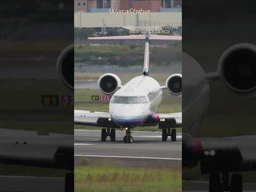
[[[61,83],[74,90],[74,44],[60,53],[57,60],[57,74]]]

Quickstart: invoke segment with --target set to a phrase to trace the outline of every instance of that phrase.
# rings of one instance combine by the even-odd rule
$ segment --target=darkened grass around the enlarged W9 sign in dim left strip
[[[42,95],[70,94],[58,79],[2,79],[0,127],[73,134],[73,106],[44,107]],[[29,90],[29,91],[25,91]]]

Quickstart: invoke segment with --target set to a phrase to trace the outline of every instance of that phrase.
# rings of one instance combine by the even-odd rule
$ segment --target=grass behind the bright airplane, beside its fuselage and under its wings
[[[75,109],[108,112],[107,101],[91,101],[91,95],[102,95],[99,90],[76,89]],[[158,109],[158,113],[175,113],[181,111],[181,98],[170,95],[167,91],[163,93],[163,101]],[[101,130],[101,127],[74,125],[74,129]],[[158,126],[136,127],[134,131],[161,131]],[[178,132],[182,129],[178,128]]]

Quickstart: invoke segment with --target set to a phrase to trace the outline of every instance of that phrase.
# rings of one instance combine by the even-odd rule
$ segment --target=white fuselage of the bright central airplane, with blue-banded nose
[[[159,83],[149,76],[131,79],[115,92],[109,102],[111,120],[120,127],[142,125],[155,115],[162,102],[162,89]]]

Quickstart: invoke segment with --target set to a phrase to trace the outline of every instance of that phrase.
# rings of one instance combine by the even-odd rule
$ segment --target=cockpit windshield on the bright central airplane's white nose
[[[114,97],[111,98],[110,103],[137,104],[137,103],[148,103],[148,100],[145,96],[142,96],[142,97],[114,96]]]

